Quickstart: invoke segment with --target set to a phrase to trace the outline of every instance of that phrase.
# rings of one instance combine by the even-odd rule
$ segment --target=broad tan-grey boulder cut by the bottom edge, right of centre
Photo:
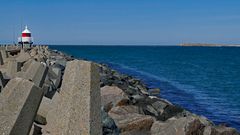
[[[166,122],[155,121],[152,135],[203,135],[205,125],[196,117],[171,118]]]

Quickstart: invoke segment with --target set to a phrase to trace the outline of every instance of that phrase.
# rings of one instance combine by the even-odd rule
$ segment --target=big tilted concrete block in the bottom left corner
[[[0,133],[27,135],[42,97],[43,91],[33,82],[10,80],[0,95]]]

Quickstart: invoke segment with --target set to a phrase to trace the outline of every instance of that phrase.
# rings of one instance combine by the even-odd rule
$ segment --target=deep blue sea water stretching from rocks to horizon
[[[160,96],[216,124],[240,130],[240,48],[179,46],[51,46],[106,63],[159,87]]]

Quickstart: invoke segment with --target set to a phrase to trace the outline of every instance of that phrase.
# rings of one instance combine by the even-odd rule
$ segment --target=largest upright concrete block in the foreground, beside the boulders
[[[57,107],[47,115],[46,132],[54,135],[101,135],[98,66],[88,61],[67,63]]]

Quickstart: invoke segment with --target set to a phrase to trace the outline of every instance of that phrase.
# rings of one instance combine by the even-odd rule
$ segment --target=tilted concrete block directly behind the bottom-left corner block
[[[48,67],[40,62],[31,61],[29,68],[26,71],[26,79],[35,83],[36,86],[42,87],[46,78]]]

